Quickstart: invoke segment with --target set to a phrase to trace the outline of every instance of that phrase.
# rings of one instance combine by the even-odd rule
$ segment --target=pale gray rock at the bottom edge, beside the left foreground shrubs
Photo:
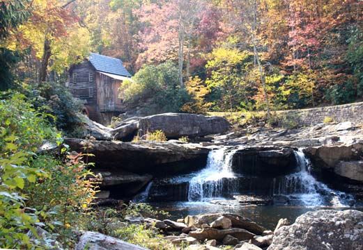
[[[84,250],[84,249],[92,249],[92,250],[148,250],[144,247],[139,247],[134,244],[130,244],[128,242],[124,242],[123,240],[118,240],[111,236],[104,235],[102,233],[90,232],[87,231],[82,235],[79,239],[78,244],[75,247],[75,250]]]

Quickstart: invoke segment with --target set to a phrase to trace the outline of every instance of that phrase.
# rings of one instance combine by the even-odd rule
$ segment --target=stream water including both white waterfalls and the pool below
[[[302,151],[294,151],[296,172],[273,178],[271,187],[274,205],[245,206],[233,199],[240,194],[240,185],[244,174],[233,172],[233,154],[238,149],[223,147],[210,151],[206,167],[198,172],[178,176],[173,182],[186,182],[187,201],[150,202],[157,210],[170,213],[173,219],[200,213],[235,213],[249,217],[261,226],[273,229],[280,218],[293,222],[296,217],[311,210],[319,209],[354,209],[363,210],[362,204],[355,203],[352,196],[332,190],[311,175],[311,163]],[[147,202],[148,192],[153,188],[149,183],[144,192],[134,201]],[[244,194],[246,196],[246,194]],[[251,193],[251,196],[254,194]],[[247,194],[248,196],[248,194]],[[270,196],[271,197],[271,196]],[[222,201],[213,202],[213,201]]]

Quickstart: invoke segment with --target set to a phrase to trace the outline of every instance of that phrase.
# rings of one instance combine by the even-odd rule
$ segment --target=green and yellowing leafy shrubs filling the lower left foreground
[[[69,240],[88,212],[94,186],[82,155],[62,156],[40,151],[43,140],[61,144],[61,135],[22,94],[7,93],[0,101],[0,247],[52,248],[52,238]],[[36,227],[51,231],[43,239],[29,238]],[[69,246],[68,246],[69,247]]]

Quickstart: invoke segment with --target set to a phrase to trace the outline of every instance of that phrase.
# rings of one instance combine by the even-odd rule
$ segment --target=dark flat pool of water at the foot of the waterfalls
[[[304,207],[304,206],[221,206],[209,202],[158,202],[150,203],[156,210],[169,212],[171,219],[184,218],[187,215],[201,213],[234,213],[252,219],[257,224],[273,231],[280,218],[287,218],[289,222],[309,211],[320,209],[346,210],[355,209],[363,211],[363,206],[354,208],[334,207]]]

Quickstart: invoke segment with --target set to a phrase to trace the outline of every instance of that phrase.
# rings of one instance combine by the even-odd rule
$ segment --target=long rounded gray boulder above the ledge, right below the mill
[[[127,140],[137,133],[146,135],[148,132],[161,130],[167,138],[212,135],[229,130],[229,122],[222,117],[205,115],[164,113],[148,117],[134,117],[120,124],[111,131],[118,140]]]

